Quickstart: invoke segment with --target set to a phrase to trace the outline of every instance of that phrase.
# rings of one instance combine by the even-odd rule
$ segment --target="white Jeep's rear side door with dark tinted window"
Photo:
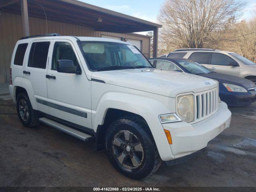
[[[28,79],[34,91],[34,99],[38,110],[49,113],[48,106],[38,100],[47,100],[46,73],[49,61],[48,52],[51,40],[35,40],[29,45],[29,54],[26,57],[24,78]]]

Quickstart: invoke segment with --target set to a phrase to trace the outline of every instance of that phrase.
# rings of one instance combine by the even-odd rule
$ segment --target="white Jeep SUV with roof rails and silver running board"
[[[47,34],[14,48],[10,94],[27,127],[94,137],[112,165],[142,179],[188,159],[230,126],[218,82],[154,68],[126,42]]]

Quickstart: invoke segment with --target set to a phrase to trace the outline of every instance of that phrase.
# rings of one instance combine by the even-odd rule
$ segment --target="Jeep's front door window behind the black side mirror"
[[[54,44],[53,54],[52,54],[52,70],[57,70],[58,60],[72,60],[74,65],[80,69],[76,54],[69,43],[66,42],[56,42]]]

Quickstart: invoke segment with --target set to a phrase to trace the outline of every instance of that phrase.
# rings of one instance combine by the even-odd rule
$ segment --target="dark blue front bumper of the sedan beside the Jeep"
[[[227,92],[220,90],[220,100],[228,106],[246,106],[256,102],[256,91]]]

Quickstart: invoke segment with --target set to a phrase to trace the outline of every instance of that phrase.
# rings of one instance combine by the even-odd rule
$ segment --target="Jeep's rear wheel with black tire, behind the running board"
[[[27,106],[26,111],[22,110],[24,108],[21,108],[21,106],[23,106],[23,107]],[[25,94],[25,93],[18,94],[16,109],[17,109],[17,114],[18,114],[18,117],[20,119],[20,122],[24,126],[34,127],[34,126],[37,126],[40,123],[39,120],[38,120],[38,114],[35,110],[33,110],[32,105],[30,103],[30,100],[29,100],[27,94]],[[28,115],[25,115],[27,118],[24,118],[23,114],[28,114]]]

